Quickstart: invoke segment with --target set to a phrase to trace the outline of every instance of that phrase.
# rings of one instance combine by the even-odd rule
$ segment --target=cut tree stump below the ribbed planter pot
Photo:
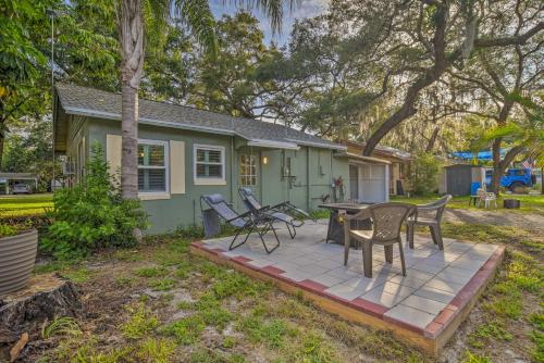
[[[0,346],[12,345],[23,333],[36,338],[44,322],[55,316],[75,317],[81,308],[71,281],[52,274],[33,276],[26,288],[0,297]]]

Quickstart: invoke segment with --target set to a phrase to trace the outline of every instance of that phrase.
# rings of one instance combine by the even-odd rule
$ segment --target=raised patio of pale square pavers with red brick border
[[[233,251],[232,237],[191,243],[191,252],[265,279],[287,292],[301,291],[321,309],[349,321],[392,330],[399,339],[437,354],[468,315],[499,265],[504,247],[444,239],[444,251],[416,236],[405,246],[407,276],[398,249],[386,264],[383,247],[374,247],[373,276],[362,273],[362,253],[325,243],[327,222],[307,222],[290,240],[277,227],[281,247],[267,254],[257,236]],[[265,239],[271,245],[272,237]]]

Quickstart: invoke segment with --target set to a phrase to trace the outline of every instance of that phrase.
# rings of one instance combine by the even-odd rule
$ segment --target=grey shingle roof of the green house
[[[121,120],[120,93],[63,83],[58,83],[55,89],[61,107],[67,114]],[[342,145],[284,125],[233,117],[190,107],[145,99],[139,100],[139,122],[166,127],[238,135],[255,145],[268,141],[279,145],[283,143],[285,147],[310,145],[321,148],[345,149]]]

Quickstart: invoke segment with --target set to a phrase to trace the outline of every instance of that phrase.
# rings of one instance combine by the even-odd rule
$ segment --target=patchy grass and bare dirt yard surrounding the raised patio
[[[461,334],[459,362],[544,358],[544,271],[540,236],[515,227],[444,224],[444,235],[508,248],[499,273]],[[534,243],[526,243],[532,241]],[[300,296],[188,252],[186,236],[146,238],[138,248],[106,251],[86,262],[52,262],[86,296],[89,314],[55,320],[42,362],[435,362],[390,333],[337,318]],[[100,268],[89,268],[101,265]],[[148,292],[154,293],[150,296]],[[521,347],[521,348],[520,348]],[[76,359],[77,358],[77,359]]]

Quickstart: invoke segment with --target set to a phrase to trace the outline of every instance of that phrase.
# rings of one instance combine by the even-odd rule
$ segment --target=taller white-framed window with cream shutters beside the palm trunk
[[[138,143],[139,192],[168,192],[166,141],[140,140]]]

